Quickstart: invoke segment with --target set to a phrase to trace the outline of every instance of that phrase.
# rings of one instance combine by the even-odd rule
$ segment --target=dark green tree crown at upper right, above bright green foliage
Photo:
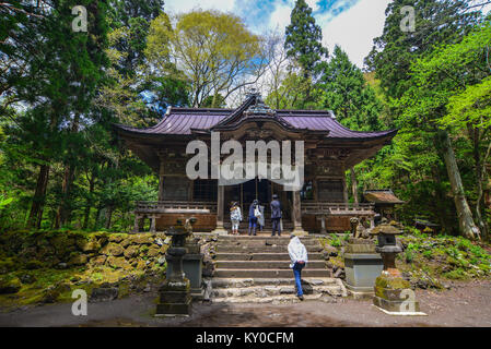
[[[401,9],[408,5],[414,9],[414,32],[405,33],[400,25],[407,13]],[[471,29],[480,14],[469,5],[464,0],[395,0],[387,5],[384,32],[374,39],[365,64],[389,97],[398,98],[408,88],[413,60],[435,45],[458,43]]]

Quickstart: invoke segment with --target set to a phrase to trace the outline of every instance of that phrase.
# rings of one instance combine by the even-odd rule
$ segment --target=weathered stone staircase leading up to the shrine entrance
[[[325,266],[323,248],[313,237],[301,238],[308,252],[302,270],[305,300],[336,301],[347,291],[340,279],[332,278]],[[293,272],[285,237],[221,236],[214,256],[211,279],[213,302],[290,303],[296,298]]]

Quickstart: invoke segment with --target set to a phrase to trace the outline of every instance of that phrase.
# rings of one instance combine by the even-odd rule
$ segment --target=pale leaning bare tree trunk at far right
[[[455,207],[457,209],[457,218],[460,232],[468,239],[480,239],[479,228],[474,222],[472,213],[470,212],[464,192],[464,185],[461,183],[460,172],[455,159],[455,153],[452,148],[451,139],[448,137],[448,133],[446,131],[440,131],[439,135],[443,145],[443,156],[445,159],[446,170],[448,172],[448,179],[451,181]]]

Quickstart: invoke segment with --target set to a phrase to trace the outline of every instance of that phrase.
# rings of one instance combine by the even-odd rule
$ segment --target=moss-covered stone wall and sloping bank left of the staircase
[[[0,306],[71,300],[74,289],[144,291],[165,276],[161,233],[10,231],[0,233]]]

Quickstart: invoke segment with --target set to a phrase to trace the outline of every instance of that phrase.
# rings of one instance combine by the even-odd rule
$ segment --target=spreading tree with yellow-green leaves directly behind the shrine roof
[[[147,55],[151,63],[175,63],[190,83],[191,106],[200,107],[211,96],[225,100],[243,86],[253,85],[267,63],[262,39],[232,14],[196,10],[176,19],[152,22]],[[209,103],[209,101],[207,101]]]

